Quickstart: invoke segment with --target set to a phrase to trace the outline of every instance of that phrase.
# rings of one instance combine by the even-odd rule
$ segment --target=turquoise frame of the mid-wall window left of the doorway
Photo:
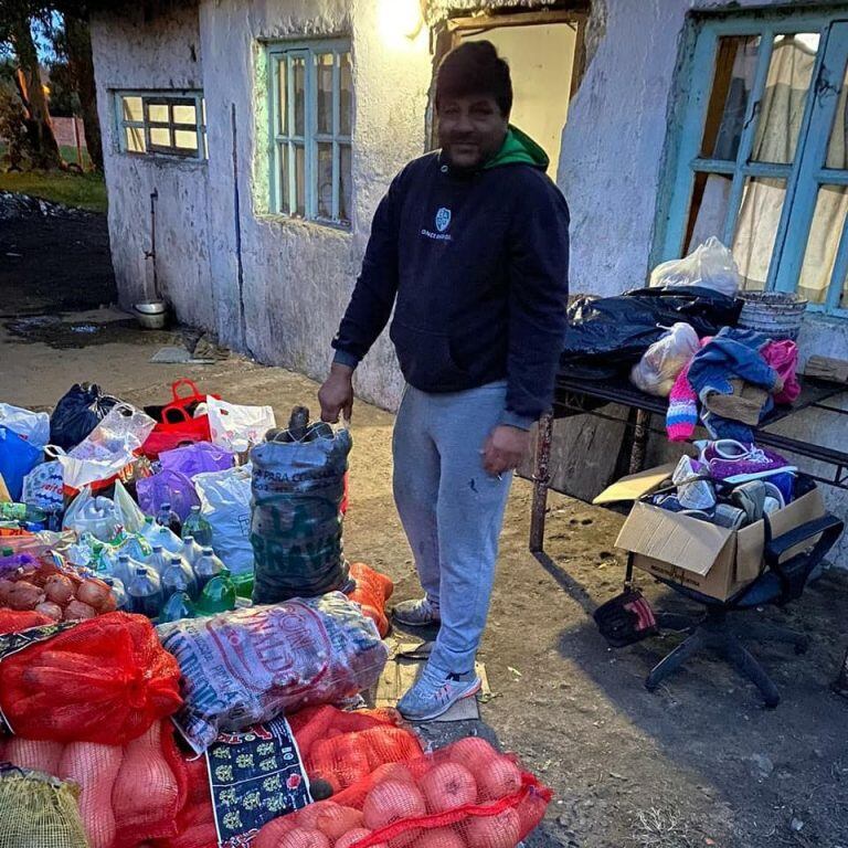
[[[341,56],[350,61],[349,39],[325,39],[320,41],[276,42],[266,46],[268,68],[268,161],[271,173],[268,186],[271,211],[287,218],[315,221],[321,224],[350,227],[350,220],[341,216],[341,149],[351,150],[352,135],[341,132]],[[318,131],[318,57],[332,55],[332,131]],[[295,97],[293,62],[304,60],[304,132],[295,134]],[[286,65],[286,131],[280,131],[279,80],[280,64]],[[353,98],[349,126],[353,125]],[[332,199],[330,214],[319,214],[318,191],[318,145],[332,145]],[[297,183],[292,179],[296,174],[296,150],[304,149],[304,214],[297,214]],[[288,186],[283,186],[283,163],[286,157]],[[284,198],[284,191],[286,197]],[[351,199],[352,200],[352,199]],[[351,210],[348,209],[348,215]]]

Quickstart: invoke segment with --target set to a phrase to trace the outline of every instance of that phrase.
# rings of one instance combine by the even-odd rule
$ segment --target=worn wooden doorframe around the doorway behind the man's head
[[[502,10],[489,9],[479,14],[469,15],[457,13],[437,23],[431,30],[431,50],[433,52],[433,75],[427,96],[427,109],[425,120],[425,147],[435,150],[438,147],[436,138],[436,72],[442,60],[456,47],[463,32],[494,30],[500,26],[537,26],[547,23],[571,24],[576,33],[574,41],[574,65],[571,73],[571,89],[569,100],[580,88],[583,74],[586,70],[586,25],[589,23],[589,2],[563,3],[547,9],[506,8]]]

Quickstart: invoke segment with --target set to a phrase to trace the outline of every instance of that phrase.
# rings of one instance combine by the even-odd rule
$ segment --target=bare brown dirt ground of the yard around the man
[[[317,386],[240,358],[215,365],[149,362],[169,333],[144,333],[113,310],[105,229],[35,219],[0,221],[0,400],[50,409],[75,381],[96,380],[142,405],[190,377],[242,403],[269,403],[278,417],[315,406]],[[8,252],[22,254],[14,264]],[[10,307],[11,305],[11,307]],[[73,311],[71,311],[73,309]],[[29,321],[20,322],[21,314]],[[39,315],[46,316],[33,320]],[[94,327],[78,331],[75,327]],[[392,415],[358,404],[346,549],[415,595],[409,547],[391,497]],[[679,639],[612,650],[592,608],[614,595],[624,561],[614,547],[622,517],[551,498],[547,556],[528,552],[530,486],[516,483],[481,658],[495,698],[485,727],[555,791],[529,846],[570,848],[848,848],[848,700],[830,692],[848,633],[848,580],[827,572],[785,612],[750,613],[812,638],[809,653],[752,645],[783,703],[762,708],[751,686],[709,657],[648,693],[643,681]],[[676,604],[648,579],[658,608]],[[436,742],[441,731],[425,730]]]

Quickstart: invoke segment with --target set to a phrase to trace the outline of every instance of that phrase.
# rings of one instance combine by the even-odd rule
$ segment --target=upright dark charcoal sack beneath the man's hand
[[[312,424],[272,430],[267,438],[251,451],[253,601],[276,604],[341,590],[348,583],[340,507],[350,432]]]

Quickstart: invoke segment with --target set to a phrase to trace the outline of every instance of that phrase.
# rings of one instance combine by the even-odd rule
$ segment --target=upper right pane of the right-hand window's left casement
[[[776,35],[751,159],[789,165],[795,159],[818,33]]]

